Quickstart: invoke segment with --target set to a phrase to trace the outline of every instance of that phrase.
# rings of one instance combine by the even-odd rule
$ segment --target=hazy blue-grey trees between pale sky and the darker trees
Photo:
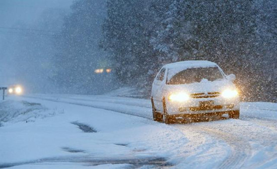
[[[106,60],[98,45],[104,5],[104,1],[75,1],[72,13],[64,19],[62,33],[57,35],[54,77],[63,93],[95,94],[111,86],[110,76],[94,73]],[[103,66],[107,68],[110,64]]]

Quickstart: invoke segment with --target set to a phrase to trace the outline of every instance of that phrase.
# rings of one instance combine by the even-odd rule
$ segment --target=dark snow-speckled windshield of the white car
[[[200,82],[203,79],[215,81],[222,78],[223,75],[219,71],[218,67],[198,67],[185,69],[178,72],[168,81],[167,84],[181,85],[185,83]]]

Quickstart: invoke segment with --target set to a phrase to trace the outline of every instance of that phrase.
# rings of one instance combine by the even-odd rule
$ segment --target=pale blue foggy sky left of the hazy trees
[[[71,0],[0,1],[0,84],[39,90],[47,83],[52,34],[60,31]],[[49,67],[50,69],[50,67]],[[48,82],[49,83],[49,82]]]

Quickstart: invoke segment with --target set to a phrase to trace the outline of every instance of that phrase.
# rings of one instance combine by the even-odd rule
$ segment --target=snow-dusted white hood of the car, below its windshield
[[[167,93],[185,92],[187,94],[193,93],[208,93],[208,92],[222,92],[226,89],[236,89],[234,83],[228,79],[194,82],[183,85],[166,85],[165,91]]]

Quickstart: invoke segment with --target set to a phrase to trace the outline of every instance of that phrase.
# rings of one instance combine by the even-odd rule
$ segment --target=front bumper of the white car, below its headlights
[[[200,103],[212,102],[212,106],[201,107]],[[217,112],[229,112],[239,110],[239,97],[225,99],[222,96],[217,98],[190,98],[186,102],[174,102],[167,100],[166,108],[169,115],[181,114],[207,114]]]

